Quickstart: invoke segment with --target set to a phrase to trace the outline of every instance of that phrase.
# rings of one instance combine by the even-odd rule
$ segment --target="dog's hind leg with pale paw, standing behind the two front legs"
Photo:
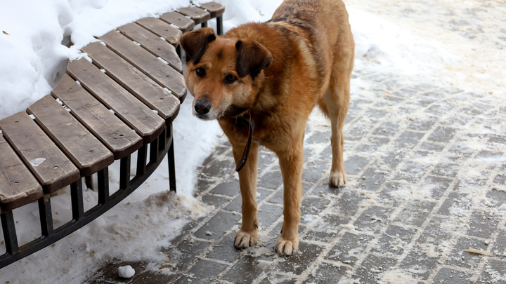
[[[335,63],[335,66],[332,68],[329,88],[319,103],[320,109],[330,119],[332,127],[332,136],[330,137],[332,168],[330,170],[329,182],[333,187],[344,187],[344,184],[346,184],[343,157],[344,137],[342,131],[350,100],[350,73],[351,69],[349,71],[342,70]]]

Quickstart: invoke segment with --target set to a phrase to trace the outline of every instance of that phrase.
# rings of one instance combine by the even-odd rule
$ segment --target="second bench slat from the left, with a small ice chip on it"
[[[2,119],[0,128],[46,194],[79,180],[74,163],[25,112]]]

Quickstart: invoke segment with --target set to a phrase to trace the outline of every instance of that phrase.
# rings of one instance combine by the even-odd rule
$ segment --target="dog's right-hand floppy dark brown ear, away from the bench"
[[[240,39],[235,43],[238,50],[237,68],[240,76],[251,74],[252,79],[259,74],[272,61],[271,52],[257,41],[252,39]]]

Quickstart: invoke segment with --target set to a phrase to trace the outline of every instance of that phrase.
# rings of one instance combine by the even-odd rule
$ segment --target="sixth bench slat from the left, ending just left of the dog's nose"
[[[98,42],[90,43],[82,50],[88,53],[95,65],[105,69],[112,79],[115,79],[148,107],[156,109],[162,119],[171,122],[176,118],[179,111],[179,99],[168,90],[162,88],[136,67]]]

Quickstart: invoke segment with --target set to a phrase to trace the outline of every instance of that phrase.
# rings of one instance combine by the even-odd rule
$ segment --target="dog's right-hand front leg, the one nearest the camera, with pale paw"
[[[299,250],[300,203],[302,196],[302,142],[294,149],[277,153],[283,175],[283,227],[275,243],[280,255],[292,255]]]

